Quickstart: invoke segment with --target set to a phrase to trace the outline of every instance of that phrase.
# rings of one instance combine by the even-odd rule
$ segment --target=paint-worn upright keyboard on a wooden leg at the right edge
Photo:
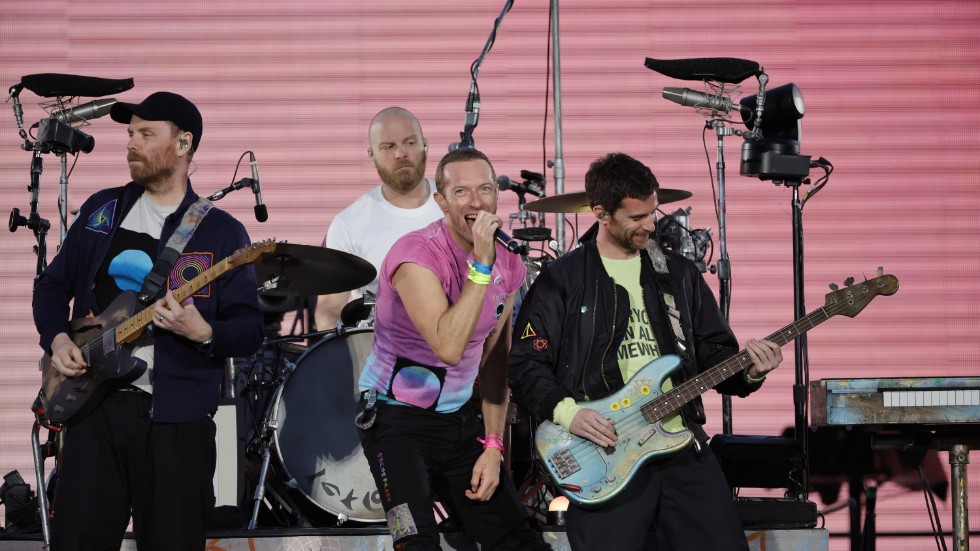
[[[980,377],[823,379],[809,390],[814,427],[863,427],[876,433],[873,448],[949,452],[953,549],[968,551],[966,467],[980,447]]]

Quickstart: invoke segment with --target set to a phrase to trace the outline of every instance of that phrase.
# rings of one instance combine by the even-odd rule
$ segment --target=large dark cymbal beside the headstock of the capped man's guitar
[[[363,258],[326,247],[277,243],[255,263],[259,294],[328,295],[350,291],[374,280],[377,270]]]

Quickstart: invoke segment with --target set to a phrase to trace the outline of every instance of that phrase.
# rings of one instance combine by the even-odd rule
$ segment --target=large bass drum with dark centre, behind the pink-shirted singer
[[[290,485],[340,522],[385,520],[354,426],[357,379],[373,342],[373,329],[357,329],[311,347],[268,413],[270,426],[278,426],[273,445]]]

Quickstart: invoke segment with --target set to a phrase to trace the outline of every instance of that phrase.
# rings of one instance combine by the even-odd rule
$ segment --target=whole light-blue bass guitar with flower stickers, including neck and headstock
[[[879,271],[880,274],[880,271]],[[766,337],[782,346],[833,316],[856,316],[878,295],[898,291],[898,279],[879,277],[827,294],[826,304],[802,319]],[[694,441],[687,429],[668,432],[663,420],[684,404],[752,365],[741,351],[667,393],[661,385],[681,366],[675,355],[658,358],[638,371],[626,386],[611,396],[580,405],[594,409],[615,423],[615,446],[602,448],[545,421],[534,436],[535,451],[558,488],[568,499],[589,507],[602,505],[618,494],[650,459],[675,453]]]

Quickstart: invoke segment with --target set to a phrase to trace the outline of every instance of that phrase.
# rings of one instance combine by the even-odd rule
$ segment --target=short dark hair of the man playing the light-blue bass
[[[600,157],[585,173],[589,206],[602,205],[610,215],[622,206],[623,199],[646,199],[659,187],[650,168],[625,153]]]

